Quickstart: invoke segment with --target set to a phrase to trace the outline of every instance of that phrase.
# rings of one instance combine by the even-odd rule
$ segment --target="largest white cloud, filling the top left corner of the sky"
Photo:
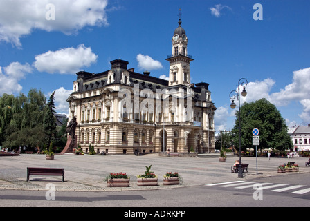
[[[46,19],[55,6],[55,20]],[[1,0],[0,41],[21,47],[20,38],[35,29],[64,32],[71,35],[84,26],[107,26],[107,0]]]

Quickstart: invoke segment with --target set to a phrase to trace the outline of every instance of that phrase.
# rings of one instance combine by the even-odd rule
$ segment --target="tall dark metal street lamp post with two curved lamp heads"
[[[246,85],[248,84],[248,81],[245,78],[241,78],[238,81],[238,91],[237,90],[233,90],[230,92],[229,97],[231,99],[231,104],[230,104],[230,108],[235,109],[236,104],[234,102],[234,99],[236,98],[236,95],[232,94],[232,93],[237,93],[237,99],[238,99],[238,104],[239,104],[239,173],[238,173],[238,178],[243,178],[244,175],[242,173],[242,166],[241,166],[241,118],[240,118],[240,85],[244,88],[244,90],[242,90],[241,95],[242,97],[246,97]]]

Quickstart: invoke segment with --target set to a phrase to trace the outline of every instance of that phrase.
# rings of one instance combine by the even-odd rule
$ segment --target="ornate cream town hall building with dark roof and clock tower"
[[[169,80],[111,61],[102,73],[80,71],[69,96],[70,116],[84,152],[89,145],[108,154],[215,151],[214,112],[209,84],[190,82],[188,37],[179,26],[172,37]]]

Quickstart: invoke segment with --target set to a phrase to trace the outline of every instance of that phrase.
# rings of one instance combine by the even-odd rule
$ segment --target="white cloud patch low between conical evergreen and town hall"
[[[63,87],[60,87],[55,91],[55,111],[57,113],[64,113],[65,115],[69,115],[69,103],[66,102],[66,99],[68,99],[71,93],[73,93],[73,90],[66,90]],[[51,96],[51,93],[48,95]]]

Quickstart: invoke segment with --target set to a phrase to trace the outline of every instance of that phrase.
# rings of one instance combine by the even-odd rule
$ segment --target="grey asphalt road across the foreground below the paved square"
[[[310,188],[308,174],[262,177],[242,182],[302,186],[298,190]],[[262,199],[255,200],[253,197],[255,189],[237,189],[235,187],[221,187],[217,184],[208,186],[206,184],[147,191],[56,191],[55,200],[46,200],[48,191],[0,190],[0,200],[3,206],[10,207],[286,207],[287,202],[294,207],[310,206],[310,191],[304,194],[295,194],[292,193],[293,190],[277,192],[272,191],[274,189],[266,189],[262,191]]]

